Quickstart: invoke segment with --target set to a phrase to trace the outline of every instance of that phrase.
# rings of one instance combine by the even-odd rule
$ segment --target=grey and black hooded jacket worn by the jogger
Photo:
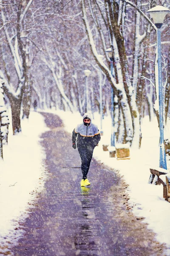
[[[89,150],[93,150],[99,143],[100,132],[97,125],[92,123],[90,113],[85,113],[82,119],[84,120],[85,118],[91,120],[90,124],[88,125],[83,121],[82,124],[77,125],[77,127],[73,130],[72,141],[73,143],[76,143],[77,139],[78,149],[87,147]]]

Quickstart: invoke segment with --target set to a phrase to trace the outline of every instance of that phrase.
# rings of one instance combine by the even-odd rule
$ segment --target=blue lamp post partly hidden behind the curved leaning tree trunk
[[[108,52],[108,56],[111,60],[111,74],[113,76],[113,56],[111,48],[106,50]],[[111,119],[112,119],[112,129],[111,129],[111,146],[115,147],[115,133],[114,133],[114,91],[113,87],[111,87]]]

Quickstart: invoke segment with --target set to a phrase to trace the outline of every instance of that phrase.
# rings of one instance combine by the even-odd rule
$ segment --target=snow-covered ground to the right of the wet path
[[[65,129],[72,133],[78,123],[82,122],[79,113],[56,112],[64,121]],[[74,120],[74,121],[73,121]],[[94,114],[94,124],[100,129],[100,116]],[[170,203],[163,198],[163,187],[148,184],[150,167],[159,168],[159,128],[157,119],[149,122],[145,117],[142,122],[142,147],[140,150],[130,150],[130,160],[117,160],[109,157],[108,151],[103,151],[103,144],[110,144],[111,117],[102,120],[103,136],[99,146],[94,149],[94,157],[102,163],[117,169],[129,184],[128,201],[133,207],[136,216],[144,217],[148,228],[157,234],[157,240],[166,243],[170,255]],[[169,130],[168,130],[169,128]],[[170,120],[168,120],[167,134],[170,139]],[[167,160],[167,168],[170,168],[170,160]],[[89,174],[90,175],[90,174]]]

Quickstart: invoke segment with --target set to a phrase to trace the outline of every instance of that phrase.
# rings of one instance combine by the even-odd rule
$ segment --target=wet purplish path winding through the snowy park
[[[62,121],[43,113],[50,131],[42,135],[49,179],[12,253],[15,256],[164,255],[146,224],[126,209],[119,175],[91,162],[90,188],[80,188],[80,157]]]

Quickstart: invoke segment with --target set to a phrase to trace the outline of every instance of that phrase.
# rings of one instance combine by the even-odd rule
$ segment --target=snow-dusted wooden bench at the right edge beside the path
[[[155,185],[162,184],[163,198],[165,198],[166,201],[170,202],[170,173],[167,170],[163,168],[159,168],[159,170],[150,168],[150,178],[148,183]]]

